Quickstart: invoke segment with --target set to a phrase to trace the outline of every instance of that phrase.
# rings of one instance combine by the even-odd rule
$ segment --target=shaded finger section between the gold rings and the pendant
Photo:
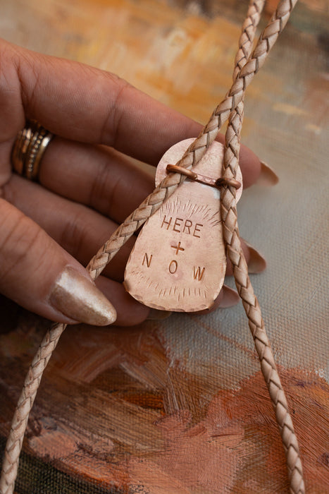
[[[44,155],[39,182],[121,223],[154,190],[154,177],[120,152],[55,138]]]

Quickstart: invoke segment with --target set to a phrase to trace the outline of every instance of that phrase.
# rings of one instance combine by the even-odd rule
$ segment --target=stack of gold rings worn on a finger
[[[27,121],[25,128],[18,133],[11,152],[13,170],[29,180],[37,181],[42,157],[53,137],[38,122]]]

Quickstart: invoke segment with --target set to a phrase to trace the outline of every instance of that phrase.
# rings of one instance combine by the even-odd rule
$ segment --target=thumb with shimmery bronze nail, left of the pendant
[[[0,292],[59,323],[108,325],[116,310],[80,263],[0,199]]]

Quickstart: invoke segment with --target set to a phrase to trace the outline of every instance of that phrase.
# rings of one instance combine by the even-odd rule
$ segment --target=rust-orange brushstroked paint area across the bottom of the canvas
[[[30,342],[39,336],[34,330],[20,332],[20,339]],[[12,338],[1,337],[4,351]],[[15,374],[23,373],[32,344],[28,353],[22,347]],[[1,359],[1,374],[11,360]],[[204,362],[205,375],[213,372],[208,367]],[[308,492],[324,493],[329,478],[328,384],[314,372],[279,370]],[[19,390],[15,375],[1,384],[6,397],[0,405],[2,435],[8,431],[8,401],[15,402]],[[171,361],[161,328],[151,323],[111,332],[68,329],[44,376],[26,448],[67,473],[103,488],[114,483],[125,492],[287,489],[284,454],[260,371],[231,390],[221,386],[221,375],[212,380],[192,375],[182,362]]]

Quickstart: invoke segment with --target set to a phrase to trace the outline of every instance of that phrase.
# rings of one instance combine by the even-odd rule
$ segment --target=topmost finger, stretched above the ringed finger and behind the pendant
[[[201,129],[200,124],[111,73],[35,54],[6,42],[0,49],[11,88],[11,98],[0,96],[1,108],[11,115],[9,125],[0,125],[7,136],[4,140],[15,138],[28,117],[70,140],[110,145],[157,164],[171,145],[196,137]],[[242,147],[242,168],[245,152]],[[250,173],[258,176],[259,159],[247,152],[246,162]],[[246,185],[248,180],[246,174]]]

